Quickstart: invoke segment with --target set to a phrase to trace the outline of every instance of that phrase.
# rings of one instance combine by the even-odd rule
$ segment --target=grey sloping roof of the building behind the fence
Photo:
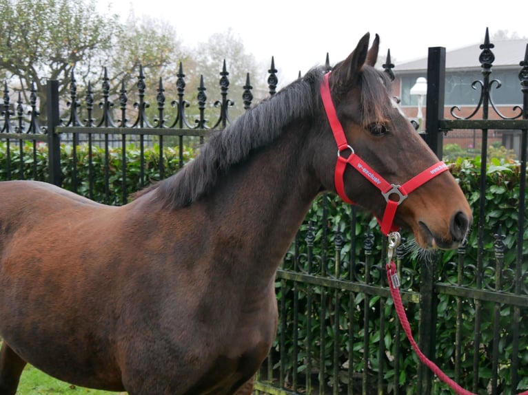
[[[491,52],[495,55],[494,67],[520,67],[520,61],[524,60],[528,52],[528,39],[511,39],[492,41],[495,47]],[[480,43],[468,45],[467,47],[449,50],[445,52],[446,69],[479,69],[480,62],[478,57],[483,50],[480,49]],[[414,61],[398,63],[395,61],[395,72],[413,72],[418,70],[427,70],[427,57],[419,58]]]

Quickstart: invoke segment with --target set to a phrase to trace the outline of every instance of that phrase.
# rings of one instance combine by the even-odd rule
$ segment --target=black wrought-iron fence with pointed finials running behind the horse
[[[445,50],[429,50],[426,140],[441,157],[445,131],[449,136],[449,130],[478,130],[481,137],[478,147],[483,160],[472,230],[475,242],[455,252],[417,257],[401,247],[397,261],[405,308],[423,352],[473,392],[515,394],[518,389],[528,388],[528,60],[525,58],[520,65],[520,89],[525,101],[518,109],[519,115],[516,119],[487,120],[489,87],[493,85],[489,79],[492,63],[488,61],[491,48],[491,44],[483,44],[481,56],[485,59],[480,104],[486,109],[483,120],[441,118]],[[278,82],[275,73],[272,63],[270,94],[274,94]],[[203,85],[196,92],[197,111],[190,116],[181,67],[177,77],[176,98],[172,100],[175,111],[169,115],[160,81],[152,115],[154,106],[149,107],[145,100],[141,73],[134,103],[129,103],[124,88],[119,97],[111,98],[108,80],[103,81],[99,109],[94,105],[91,87],[85,99],[79,100],[72,76],[70,97],[63,100],[70,106],[63,119],[57,82],[50,81],[46,125],[39,125],[34,92],[30,110],[26,111],[20,98],[17,103],[10,102],[5,85],[0,120],[0,141],[6,149],[2,178],[48,180],[101,202],[126,203],[131,191],[181,167],[187,159],[185,147],[206,138],[210,129],[225,126],[234,102],[242,103],[243,108],[252,105],[249,76],[241,100],[232,100],[227,72],[223,70],[219,100],[214,105],[216,118],[207,114],[210,110],[206,109]],[[208,122],[208,117],[214,120]],[[523,147],[518,162],[520,181],[514,186],[518,189],[518,201],[514,202],[517,215],[498,226],[491,236],[484,234],[490,214],[487,199],[494,193],[489,191],[494,186],[486,178],[490,129],[519,130]],[[73,144],[63,145],[65,140]],[[150,147],[156,151],[153,162],[145,159]],[[176,147],[175,164],[167,158],[167,147]],[[71,150],[68,157],[72,160],[65,158],[65,150]],[[139,165],[132,170],[127,160],[134,150],[139,151]],[[103,156],[101,160],[95,159],[96,151]],[[42,161],[46,162],[45,171],[39,165]],[[100,173],[105,175],[103,186],[98,185]],[[116,183],[119,192],[112,189]],[[103,188],[101,195],[98,187]],[[376,222],[354,207],[341,204],[329,194],[315,202],[277,273],[278,337],[258,373],[257,393],[447,392],[447,387],[418,362],[400,330],[385,281],[385,246]]]

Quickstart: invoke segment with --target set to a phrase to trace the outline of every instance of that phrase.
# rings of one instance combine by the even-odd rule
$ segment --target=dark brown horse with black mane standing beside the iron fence
[[[369,49],[365,34],[328,81],[347,145],[376,172],[345,169],[345,193],[382,217],[377,176],[406,182],[438,160],[392,100],[377,55],[378,36]],[[276,269],[316,195],[336,191],[323,74],[215,132],[125,206],[0,183],[0,394],[16,392],[26,362],[131,395],[249,394],[276,334]],[[424,248],[458,246],[470,223],[449,171],[394,217]]]

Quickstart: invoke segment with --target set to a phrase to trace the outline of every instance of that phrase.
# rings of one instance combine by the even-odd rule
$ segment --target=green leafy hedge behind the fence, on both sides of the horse
[[[22,145],[23,156],[21,159],[20,149],[18,145],[12,145],[10,147],[10,164],[11,173],[8,173],[8,156],[6,155],[6,143],[0,143],[0,180],[6,180],[8,178],[27,178],[37,180],[47,180],[48,169],[47,169],[47,147],[46,145],[33,145],[28,142]],[[66,189],[72,189],[72,169],[74,159],[72,157],[72,147],[63,145],[61,147],[62,157],[62,171],[64,175],[63,185]],[[33,160],[33,153],[36,160]],[[184,160],[187,162],[191,160],[195,152],[192,149],[184,150]],[[141,187],[140,173],[141,173],[141,161],[140,152],[135,147],[127,147],[126,149],[126,176],[127,182],[123,186],[121,177],[122,168],[122,151],[120,148],[111,149],[109,153],[108,172],[109,178],[109,195],[105,195],[105,182],[103,180],[103,174],[105,169],[105,153],[102,149],[94,148],[92,151],[92,171],[94,175],[92,196],[94,200],[105,202],[108,201],[111,204],[122,204],[121,198],[123,194],[123,187],[126,188],[126,193],[130,194]],[[174,147],[166,147],[163,149],[163,166],[165,169],[164,176],[167,177],[172,173],[175,173],[179,169],[179,158],[178,149]],[[144,165],[143,171],[145,173],[145,184],[149,184],[152,181],[159,180],[161,178],[160,163],[159,163],[159,147],[152,147],[145,149],[144,153]],[[81,195],[90,195],[90,184],[89,179],[89,166],[88,166],[88,149],[85,146],[77,147],[77,179],[79,180],[78,193]],[[456,159],[449,163],[451,172],[458,179],[460,186],[471,204],[474,212],[474,227],[469,234],[469,240],[467,248],[465,250],[465,264],[470,267],[476,262],[478,246],[477,246],[477,226],[479,224],[479,195],[480,195],[480,158],[471,159]],[[22,167],[23,177],[20,177],[19,169]],[[504,269],[511,270],[514,268],[516,260],[516,231],[517,231],[517,220],[518,220],[518,194],[519,194],[519,182],[520,182],[520,167],[518,162],[513,160],[498,160],[494,159],[487,165],[486,174],[486,207],[485,207],[485,220],[484,220],[484,250],[483,250],[483,261],[485,266],[494,266],[494,235],[498,233],[499,226],[502,232],[505,233],[506,237],[504,242],[507,246],[505,251],[505,262]],[[527,197],[528,200],[528,197]],[[351,215],[354,210],[354,215],[357,215],[357,222],[354,229],[351,229]],[[323,212],[325,212],[326,220],[323,224]],[[526,215],[526,213],[525,213]],[[527,215],[528,216],[528,215]],[[323,224],[324,226],[322,226]],[[305,237],[308,234],[310,226],[313,226],[314,231],[314,248],[312,254],[315,256],[321,256],[326,254],[329,257],[335,256],[334,241],[336,238],[336,231],[343,231],[345,238],[343,248],[341,249],[341,257],[343,259],[343,272],[346,272],[347,261],[351,253],[354,253],[360,260],[364,259],[364,244],[365,234],[372,233],[374,239],[372,244],[374,250],[372,251],[372,257],[374,261],[382,261],[381,257],[381,245],[382,237],[378,231],[376,221],[371,215],[353,209],[352,206],[341,203],[337,197],[332,194],[325,194],[319,197],[313,204],[312,209],[309,211],[305,222],[300,228],[298,233],[298,243],[292,246],[291,254],[287,257],[292,257],[293,249],[297,250],[298,255],[307,253],[307,247],[304,242]],[[356,236],[356,244],[354,251],[352,251],[352,242],[350,234],[354,233]],[[528,239],[528,227],[523,229],[523,239]],[[323,237],[326,237],[323,240]],[[326,250],[323,250],[325,248]],[[528,243],[523,244],[523,267],[522,273],[528,271]],[[445,271],[451,265],[451,262],[458,259],[457,251],[449,251],[441,253],[438,263],[438,278],[440,281],[446,281],[451,275]],[[302,266],[303,261],[300,263]],[[290,258],[285,260],[285,267],[292,268],[292,261]],[[329,273],[333,273],[334,266],[333,261],[329,261],[329,267],[327,268]],[[405,257],[404,266],[406,268],[405,278],[403,281],[407,284],[407,288],[418,291],[419,289],[419,273],[420,267],[416,259],[411,257]],[[306,270],[306,268],[298,268],[298,270]],[[494,273],[490,270],[489,286],[494,286]],[[452,274],[452,273],[451,273]],[[527,276],[525,275],[525,278]],[[526,286],[526,282],[524,283]],[[303,288],[304,287],[304,288]],[[294,292],[297,293],[294,298]],[[281,337],[281,331],[284,332],[285,339],[285,354],[290,356],[287,361],[283,361],[283,369],[291,370],[296,366],[298,372],[303,373],[306,369],[307,354],[305,353],[305,336],[307,334],[307,316],[306,314],[294,314],[294,299],[295,303],[298,303],[298,311],[305,312],[307,309],[307,288],[303,284],[296,284],[296,290],[292,283],[285,283],[285,281],[277,282],[277,295],[279,306],[281,303],[286,306],[286,325],[280,325],[278,338]],[[352,363],[354,372],[361,373],[365,369],[369,370],[372,374],[376,374],[380,368],[380,363],[385,366],[385,380],[387,381],[387,391],[392,391],[394,386],[392,382],[394,378],[394,363],[395,360],[386,356],[383,361],[378,361],[376,350],[383,342],[383,347],[387,350],[387,355],[394,356],[394,341],[393,334],[396,331],[396,320],[394,320],[394,308],[391,300],[384,300],[380,297],[372,297],[362,293],[351,294],[345,291],[334,291],[324,288],[322,286],[314,287],[310,292],[313,292],[314,300],[312,301],[312,327],[311,327],[311,339],[312,339],[312,374],[317,374],[318,366],[321,365],[322,361],[319,361],[318,352],[319,346],[321,345],[321,322],[325,322],[326,330],[323,334],[325,344],[329,348],[327,353],[327,359],[323,362],[325,366],[325,377],[324,381],[327,382],[332,379],[334,372],[334,356],[332,352],[334,340],[338,339],[341,353],[338,355],[337,361],[339,364],[339,381],[345,383],[345,379],[341,378],[341,371],[343,366],[350,365]],[[507,292],[507,290],[506,290]],[[339,325],[338,332],[334,331],[335,328],[335,311],[336,306],[330,306],[325,310],[324,316],[318,317],[319,308],[321,308],[321,296],[329,293],[329,299],[327,303],[332,304],[331,300],[337,297],[339,303]],[[449,374],[454,376],[454,341],[456,337],[456,298],[448,295],[438,295],[438,321],[436,323],[436,332],[438,334],[438,341],[436,342],[436,362],[440,367]],[[365,319],[365,309],[363,306],[369,306],[369,350],[371,350],[371,356],[369,357],[369,366],[365,367],[363,364],[363,352],[364,345],[363,334],[364,329],[361,326]],[[475,303],[473,299],[463,299],[463,328],[461,338],[463,339],[463,361],[462,361],[462,372],[461,372],[461,384],[465,387],[471,387],[472,383],[472,359],[473,359],[473,339],[474,339],[474,309]],[[414,303],[407,303],[407,309],[409,314],[409,321],[412,323],[414,333],[417,333],[417,325],[419,318],[419,310]],[[351,310],[351,306],[352,308]],[[327,306],[328,307],[328,306]],[[383,311],[382,311],[383,310]],[[528,317],[528,309],[523,308],[521,310],[520,317]],[[511,321],[512,321],[513,308],[507,305],[501,305],[498,314],[498,327],[502,328],[500,334],[500,356],[501,363],[499,366],[499,385],[505,385],[511,380],[511,369],[509,368],[509,356],[511,356],[513,343],[511,341]],[[388,317],[385,324],[385,330],[387,333],[385,336],[380,337],[378,328],[380,328],[381,322],[380,317]],[[296,317],[295,317],[296,315]],[[480,387],[487,387],[491,380],[491,350],[488,346],[491,341],[492,335],[492,323],[494,321],[494,304],[493,303],[482,303],[481,317],[483,325],[480,328],[481,341],[483,347],[480,350],[480,363],[479,363],[479,374],[480,374]],[[318,320],[318,321],[317,321]],[[323,321],[321,321],[323,320]],[[527,321],[521,321],[521,333],[526,334],[528,331]],[[296,328],[293,328],[293,325]],[[354,329],[354,350],[352,350],[353,361],[348,360],[349,350],[347,350],[347,344],[349,340],[349,325],[354,323],[356,328]],[[294,339],[288,334],[297,332],[297,345],[301,350],[298,361],[292,361],[292,352],[294,348]],[[278,341],[277,341],[278,342]],[[403,340],[405,343],[406,340]],[[279,354],[280,350],[277,349],[278,343],[274,347],[274,353]],[[403,346],[407,348],[407,346]],[[518,350],[520,352],[520,370],[518,377],[522,378],[519,389],[528,388],[528,337],[522,335],[520,337],[520,343],[518,344]],[[278,359],[274,359],[275,362]],[[399,385],[405,390],[406,394],[416,394],[416,367],[418,361],[416,356],[410,350],[403,350],[400,354],[399,359],[400,374],[397,378]],[[344,384],[343,384],[344,385]],[[444,385],[436,384],[435,394],[448,394],[447,389]],[[509,392],[506,391],[506,394]]]

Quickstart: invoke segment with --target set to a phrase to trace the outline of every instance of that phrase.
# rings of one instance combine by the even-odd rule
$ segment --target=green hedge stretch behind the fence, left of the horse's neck
[[[93,146],[90,164],[88,145],[79,145],[76,148],[75,157],[77,160],[74,160],[74,149],[71,145],[61,145],[63,188],[74,191],[75,167],[77,171],[76,192],[79,195],[91,197],[97,202],[121,205],[123,204],[123,188],[126,189],[125,196],[130,196],[143,186],[166,178],[178,171],[180,164],[178,147],[164,147],[162,151],[163,155],[160,156],[158,145],[145,147],[142,165],[140,149],[135,145],[125,147],[126,183],[123,185],[123,150],[121,147],[111,148],[107,159],[103,148]],[[11,145],[8,156],[6,142],[0,142],[0,180],[47,181],[49,178],[47,145],[41,143],[34,145],[32,142],[26,142],[22,146],[22,156],[20,153],[21,150],[18,145]],[[195,155],[194,149],[185,147],[183,162],[188,162]],[[163,159],[160,160],[160,158]],[[105,168],[107,167],[108,191],[105,182]],[[143,185],[141,184],[142,171]],[[92,182],[90,182],[90,174],[92,174]]]

